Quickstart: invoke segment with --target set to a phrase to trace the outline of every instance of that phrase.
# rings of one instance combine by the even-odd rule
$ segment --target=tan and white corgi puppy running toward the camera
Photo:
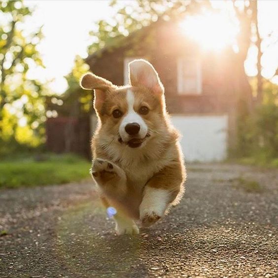
[[[129,63],[127,86],[93,73],[80,80],[94,89],[99,119],[92,139],[91,174],[106,208],[117,213],[116,233],[139,234],[179,203],[186,178],[178,132],[166,110],[164,86],[145,60]]]

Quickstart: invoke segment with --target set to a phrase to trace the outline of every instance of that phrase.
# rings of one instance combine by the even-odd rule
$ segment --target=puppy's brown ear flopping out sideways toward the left
[[[94,107],[96,110],[100,110],[102,104],[105,101],[106,91],[113,88],[114,85],[91,72],[85,73],[80,79],[80,86],[83,89],[87,90],[95,90],[95,99],[94,99]]]

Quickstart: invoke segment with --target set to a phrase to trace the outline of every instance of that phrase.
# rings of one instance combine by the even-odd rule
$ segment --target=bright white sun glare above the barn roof
[[[221,50],[236,46],[238,26],[224,14],[188,16],[180,23],[182,32],[197,41],[204,50]]]

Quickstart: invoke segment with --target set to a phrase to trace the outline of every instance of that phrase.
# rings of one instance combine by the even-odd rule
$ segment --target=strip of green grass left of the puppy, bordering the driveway
[[[74,155],[44,155],[0,162],[0,188],[62,184],[88,178],[90,162]]]

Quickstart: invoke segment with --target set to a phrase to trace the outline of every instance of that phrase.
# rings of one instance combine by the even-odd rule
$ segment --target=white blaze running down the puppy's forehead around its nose
[[[134,103],[135,103],[135,95],[131,90],[127,91],[127,104],[128,111],[127,114],[123,117],[122,122],[120,124],[119,133],[124,142],[127,142],[130,139],[129,134],[126,132],[125,127],[127,124],[137,123],[140,126],[139,134],[137,138],[143,139],[146,137],[148,127],[142,117],[135,112]]]

